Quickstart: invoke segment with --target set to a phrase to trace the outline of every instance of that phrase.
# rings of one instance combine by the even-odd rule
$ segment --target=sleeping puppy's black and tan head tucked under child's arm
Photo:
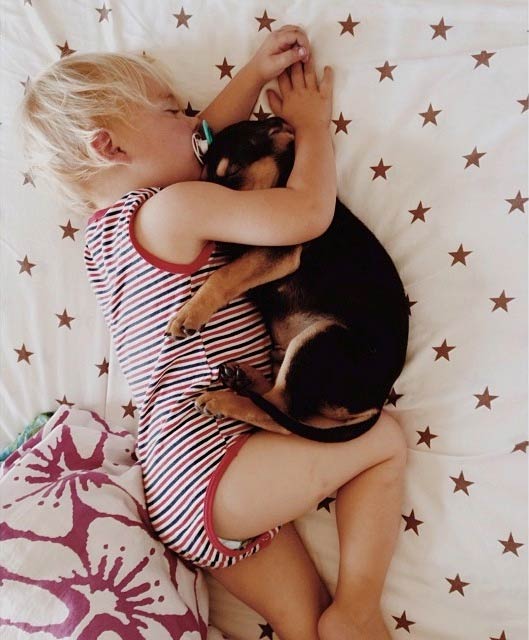
[[[294,130],[281,118],[245,120],[216,134],[203,177],[237,190],[283,187],[294,165]]]

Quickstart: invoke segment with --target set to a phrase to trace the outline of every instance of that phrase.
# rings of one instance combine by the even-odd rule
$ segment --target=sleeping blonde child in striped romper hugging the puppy
[[[266,326],[245,295],[225,307],[218,300],[203,331],[164,335],[175,313],[231,266],[225,244],[283,247],[283,260],[262,263],[268,281],[272,264],[278,278],[295,273],[310,255],[304,245],[330,227],[333,74],[325,68],[319,79],[313,58],[303,29],[286,25],[188,117],[170,74],[145,57],[73,54],[32,81],[22,120],[35,172],[89,211],[87,274],[140,408],[136,453],[154,531],[281,640],[380,640],[389,638],[380,597],[406,461],[398,422],[383,410],[358,438],[317,442],[285,435],[273,421],[258,428],[199,411],[226,362],[250,377],[257,370],[258,393],[272,379]],[[270,104],[286,123],[277,136],[295,145],[284,185],[236,190],[201,180],[192,143],[201,121],[217,136],[247,120],[276,77]],[[260,169],[256,181],[277,164],[264,159]],[[238,286],[255,287],[255,277]],[[340,577],[331,594],[293,521],[335,491]]]

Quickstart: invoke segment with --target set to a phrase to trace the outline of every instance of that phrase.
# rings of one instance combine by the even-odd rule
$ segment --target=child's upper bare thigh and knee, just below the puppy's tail
[[[364,435],[341,443],[259,431],[220,478],[213,499],[217,536],[244,540],[291,522],[362,471],[405,457],[400,425],[382,412]]]

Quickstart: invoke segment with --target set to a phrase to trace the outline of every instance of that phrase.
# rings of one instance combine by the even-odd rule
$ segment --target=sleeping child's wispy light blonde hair
[[[27,160],[70,205],[91,208],[90,179],[108,166],[92,146],[102,128],[153,107],[146,80],[172,90],[166,70],[135,54],[87,53],[61,58],[29,82],[18,114]]]

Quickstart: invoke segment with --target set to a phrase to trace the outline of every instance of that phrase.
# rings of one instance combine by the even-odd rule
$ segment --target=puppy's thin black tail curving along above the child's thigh
[[[377,422],[382,413],[382,409],[378,409],[375,415],[363,420],[362,422],[353,424],[344,424],[340,427],[313,427],[298,420],[294,420],[286,413],[280,411],[275,405],[268,400],[265,400],[262,396],[254,391],[245,389],[238,392],[240,395],[245,395],[256,404],[260,409],[273,418],[278,424],[288,431],[295,433],[302,438],[308,438],[309,440],[317,440],[318,442],[346,442],[347,440],[354,440],[362,434],[369,431],[371,427]]]

